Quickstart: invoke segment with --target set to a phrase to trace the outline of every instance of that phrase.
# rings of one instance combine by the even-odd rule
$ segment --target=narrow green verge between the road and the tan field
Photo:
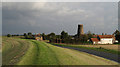
[[[84,49],[90,49],[90,50],[96,50],[96,51],[102,51],[102,52],[108,52],[108,53],[113,53],[113,54],[118,54],[120,55],[120,51],[112,50],[112,49],[105,49],[103,47],[85,47],[85,46],[77,46],[77,45],[64,45],[64,44],[53,44],[53,45],[58,45],[58,46],[63,46],[63,47],[75,47],[75,48],[84,48]]]

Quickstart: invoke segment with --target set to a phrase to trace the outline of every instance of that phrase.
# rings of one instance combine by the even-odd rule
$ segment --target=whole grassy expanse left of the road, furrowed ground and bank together
[[[117,62],[48,44],[14,37],[2,39],[3,65],[117,65]]]

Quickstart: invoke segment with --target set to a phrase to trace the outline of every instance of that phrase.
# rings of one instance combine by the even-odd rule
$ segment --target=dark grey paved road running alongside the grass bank
[[[81,52],[86,52],[86,53],[89,53],[89,54],[93,54],[93,55],[103,57],[103,58],[113,60],[113,61],[116,61],[116,62],[120,63],[118,54],[113,54],[113,53],[108,53],[108,52],[103,52],[103,51],[96,51],[96,50],[92,50],[92,49],[69,47],[69,46],[60,46],[60,45],[56,45],[56,46],[62,47],[62,48],[74,49],[74,50],[78,50],[78,51],[81,51]]]

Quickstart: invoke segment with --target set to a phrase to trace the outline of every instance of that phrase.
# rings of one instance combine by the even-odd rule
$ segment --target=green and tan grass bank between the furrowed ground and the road
[[[31,55],[30,58],[34,60],[28,59],[29,52],[21,60],[22,63],[18,63],[19,65],[29,65],[29,62],[34,61],[35,63],[31,63],[31,65],[109,65],[116,64],[113,61],[97,57],[94,55],[90,55],[83,52],[78,52],[75,50],[65,49],[53,46],[51,44],[32,40],[36,46],[35,56]],[[34,46],[34,47],[35,47]],[[30,53],[31,54],[31,53]],[[88,60],[86,60],[88,59]],[[27,61],[26,61],[27,60]],[[29,61],[29,62],[28,62]],[[82,62],[81,62],[82,61]],[[92,61],[92,62],[90,62]],[[99,61],[99,62],[97,62]],[[24,64],[26,62],[26,64]],[[28,64],[27,64],[28,63]]]

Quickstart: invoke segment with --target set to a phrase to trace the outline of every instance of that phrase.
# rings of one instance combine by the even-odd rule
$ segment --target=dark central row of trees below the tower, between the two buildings
[[[70,43],[70,44],[80,44],[80,43],[90,43],[87,40],[94,37],[90,31],[87,34],[80,35],[69,35],[67,32],[62,31],[61,35],[56,35],[55,33],[50,33],[48,35],[42,34],[44,40],[49,40],[50,42],[54,43],[56,40],[60,41],[60,43]]]

